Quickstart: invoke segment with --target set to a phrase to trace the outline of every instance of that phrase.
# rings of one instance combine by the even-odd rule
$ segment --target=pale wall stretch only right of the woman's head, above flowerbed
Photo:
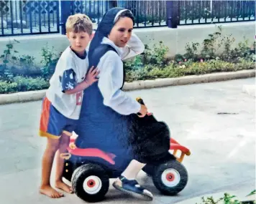
[[[239,22],[228,24],[205,24],[194,26],[179,26],[178,29],[163,28],[148,28],[137,29],[136,34],[142,39],[145,44],[152,45],[155,42],[163,41],[165,46],[169,48],[169,56],[175,54],[184,54],[186,44],[188,42],[198,42],[201,44],[204,39],[209,38],[209,34],[219,31],[217,26],[222,27],[222,36],[232,34],[235,42],[233,47],[239,42],[244,42],[248,39],[249,44],[255,41],[255,22]]]

